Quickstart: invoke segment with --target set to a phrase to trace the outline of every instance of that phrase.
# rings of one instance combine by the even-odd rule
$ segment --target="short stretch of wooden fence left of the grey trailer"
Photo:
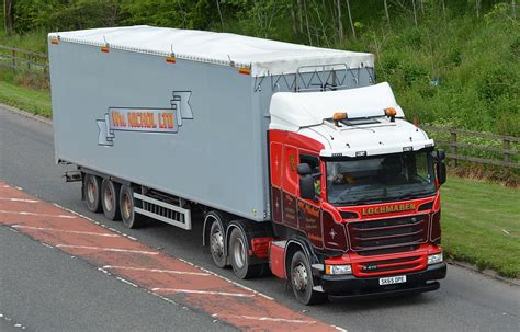
[[[0,45],[0,66],[48,78],[48,57],[46,54]]]

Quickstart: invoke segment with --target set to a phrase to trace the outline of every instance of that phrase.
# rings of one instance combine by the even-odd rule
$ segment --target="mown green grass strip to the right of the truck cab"
[[[448,256],[520,277],[520,191],[452,176],[441,194]]]

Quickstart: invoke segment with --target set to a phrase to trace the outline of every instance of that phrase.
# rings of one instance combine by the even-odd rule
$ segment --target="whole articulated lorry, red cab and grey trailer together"
[[[373,55],[150,26],[48,47],[56,161],[90,210],[203,222],[217,266],[270,268],[303,304],[439,288],[444,153]]]

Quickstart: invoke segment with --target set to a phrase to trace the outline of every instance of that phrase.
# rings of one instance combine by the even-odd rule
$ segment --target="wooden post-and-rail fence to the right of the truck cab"
[[[420,127],[425,129],[426,131],[441,133],[441,134],[449,135],[450,137],[449,139],[444,139],[444,140],[436,139],[436,144],[449,146],[450,150],[448,151],[446,157],[449,159],[452,159],[452,162],[453,162],[452,164],[454,167],[457,165],[457,161],[463,160],[463,161],[471,161],[471,162],[481,163],[481,164],[493,164],[493,165],[506,167],[510,169],[520,169],[520,163],[518,162],[518,159],[515,160],[513,158],[515,156],[518,156],[520,153],[520,150],[513,149],[513,145],[520,144],[520,137],[471,131],[471,130],[463,130],[463,129],[456,129],[456,128],[450,128],[450,127],[437,127],[437,126],[429,126],[429,125],[421,125]],[[494,141],[496,145],[500,142],[501,148],[479,146],[475,144],[467,144],[467,142],[461,141],[463,138],[471,138],[471,137],[485,138],[489,141]],[[476,150],[476,151],[500,153],[502,158],[501,160],[498,160],[498,159],[491,159],[491,158],[481,158],[481,157],[468,156],[466,153],[463,153],[460,149],[464,149],[464,150],[470,149],[470,150]]]

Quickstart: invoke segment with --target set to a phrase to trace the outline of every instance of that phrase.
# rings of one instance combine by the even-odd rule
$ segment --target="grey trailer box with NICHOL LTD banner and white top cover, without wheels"
[[[272,94],[374,81],[371,54],[202,31],[60,32],[48,49],[57,161],[256,221]]]

